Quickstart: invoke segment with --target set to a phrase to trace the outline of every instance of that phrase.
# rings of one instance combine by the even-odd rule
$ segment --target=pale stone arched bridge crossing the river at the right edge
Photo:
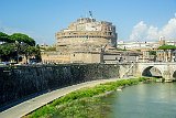
[[[173,82],[176,79],[176,63],[136,63],[136,75],[160,76],[165,78],[165,82]]]

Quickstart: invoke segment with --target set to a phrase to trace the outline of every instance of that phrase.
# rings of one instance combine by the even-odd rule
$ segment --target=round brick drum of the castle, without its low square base
[[[100,51],[101,47],[117,47],[116,26],[111,22],[80,18],[56,33],[57,51]]]

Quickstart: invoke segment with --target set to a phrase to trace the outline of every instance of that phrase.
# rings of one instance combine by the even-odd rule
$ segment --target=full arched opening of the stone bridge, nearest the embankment
[[[146,66],[146,67],[142,71],[142,76],[161,78],[161,77],[163,77],[163,73],[162,73],[162,71],[160,69],[160,67],[156,67],[156,66]]]

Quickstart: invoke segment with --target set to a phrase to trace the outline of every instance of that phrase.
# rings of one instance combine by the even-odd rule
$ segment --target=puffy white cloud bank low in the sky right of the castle
[[[157,41],[160,36],[176,40],[176,18],[170,19],[162,29],[140,21],[133,26],[130,41]]]

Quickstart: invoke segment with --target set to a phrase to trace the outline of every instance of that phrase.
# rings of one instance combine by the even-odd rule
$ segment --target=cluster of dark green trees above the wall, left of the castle
[[[13,33],[8,35],[0,32],[0,60],[19,62],[19,55],[24,55],[26,58],[35,56],[37,61],[41,61],[41,52],[38,45],[35,45],[35,41],[26,34]],[[28,63],[28,62],[26,62]]]

